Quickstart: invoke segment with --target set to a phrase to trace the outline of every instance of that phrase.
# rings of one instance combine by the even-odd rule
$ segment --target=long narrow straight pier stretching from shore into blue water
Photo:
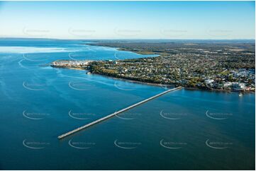
[[[150,100],[152,100],[152,99],[154,99],[154,98],[158,98],[158,97],[160,97],[161,95],[165,95],[166,93],[169,93],[170,91],[179,90],[179,89],[181,89],[181,88],[182,88],[182,87],[177,87],[177,88],[172,88],[172,89],[166,90],[165,92],[162,92],[162,93],[160,93],[160,94],[154,95],[154,96],[152,96],[151,98],[147,98],[147,99],[145,99],[145,100],[143,100],[143,101],[140,101],[140,102],[135,103],[134,105],[130,105],[129,107],[124,108],[123,110],[118,110],[117,112],[114,112],[114,113],[112,113],[112,114],[108,114],[106,117],[102,117],[101,119],[97,119],[97,120],[94,121],[94,122],[91,122],[91,123],[86,124],[86,125],[84,125],[84,126],[80,126],[79,128],[74,129],[74,130],[72,130],[72,131],[69,131],[69,132],[67,132],[67,133],[65,133],[65,134],[62,134],[62,135],[58,136],[57,138],[59,138],[59,139],[65,138],[66,136],[69,136],[69,135],[71,135],[71,134],[74,134],[74,133],[76,133],[77,131],[81,131],[82,129],[86,129],[86,128],[89,127],[89,126],[92,126],[92,125],[97,124],[97,123],[99,123],[99,122],[102,122],[102,121],[104,121],[104,120],[106,120],[106,119],[109,119],[109,118],[111,118],[111,117],[114,117],[114,116],[116,116],[116,114],[120,114],[121,112],[125,112],[126,110],[130,110],[130,109],[133,108],[133,107],[136,107],[136,106],[138,106],[138,105],[141,105],[141,104],[143,104],[143,103],[145,103],[145,102],[148,102],[148,101],[150,101]]]

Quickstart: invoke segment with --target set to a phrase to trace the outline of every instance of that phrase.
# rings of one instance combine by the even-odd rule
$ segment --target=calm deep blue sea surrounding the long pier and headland
[[[149,57],[82,41],[0,39],[1,170],[254,170],[255,94],[177,90],[57,136],[165,91],[57,59]]]

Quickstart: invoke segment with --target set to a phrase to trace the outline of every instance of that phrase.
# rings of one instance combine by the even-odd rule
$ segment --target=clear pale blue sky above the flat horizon
[[[255,39],[255,1],[0,1],[0,37]]]

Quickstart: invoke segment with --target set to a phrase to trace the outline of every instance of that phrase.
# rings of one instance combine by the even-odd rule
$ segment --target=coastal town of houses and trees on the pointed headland
[[[204,90],[255,91],[255,52],[212,47],[174,48],[162,52],[158,49],[157,57],[137,59],[60,60],[54,61],[52,66],[85,69],[88,73],[143,83]],[[143,49],[140,52],[148,53]]]

